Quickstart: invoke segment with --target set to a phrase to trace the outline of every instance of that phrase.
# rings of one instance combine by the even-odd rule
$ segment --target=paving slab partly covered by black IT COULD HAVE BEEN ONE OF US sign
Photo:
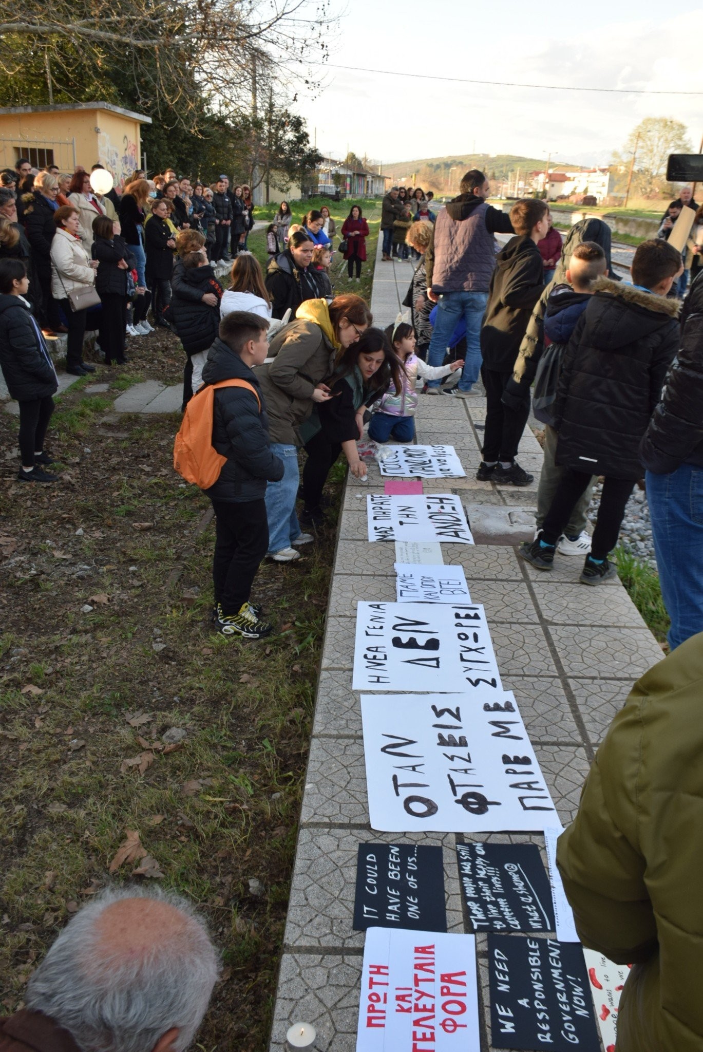
[[[443,848],[447,931],[463,932],[453,833],[379,833],[361,829],[301,829],[290,887],[285,948],[363,949],[365,932],[355,931],[354,898],[360,844],[422,844]]]

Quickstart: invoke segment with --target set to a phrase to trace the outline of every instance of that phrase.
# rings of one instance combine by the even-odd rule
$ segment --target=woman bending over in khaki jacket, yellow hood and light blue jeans
[[[277,563],[300,559],[293,545],[313,541],[309,533],[301,532],[296,514],[297,447],[302,445],[298,428],[316,403],[329,400],[322,380],[334,371],[340,352],[356,343],[371,321],[360,296],[338,296],[329,305],[326,300],[306,300],[298,307],[296,320],[272,340],[274,361],[256,370],[268,410],[272,451],[285,467],[281,482],[269,483],[266,489],[268,558]]]

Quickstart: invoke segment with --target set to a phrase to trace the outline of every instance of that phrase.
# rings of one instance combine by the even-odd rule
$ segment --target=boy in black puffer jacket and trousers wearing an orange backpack
[[[216,518],[213,560],[215,627],[222,635],[259,640],[273,629],[260,620],[261,608],[249,603],[252,584],[268,550],[266,481],[280,482],[283,463],[270,451],[268,418],[253,366],[268,353],[268,322],[259,315],[233,310],[220,323],[203,381],[243,380],[244,387],[215,391],[213,446],[227,461],[206,490]]]

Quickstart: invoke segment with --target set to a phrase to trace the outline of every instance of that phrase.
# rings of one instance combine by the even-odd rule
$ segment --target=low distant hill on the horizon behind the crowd
[[[390,176],[394,180],[403,181],[406,185],[415,182],[423,189],[433,189],[436,194],[459,193],[459,181],[464,171],[469,168],[481,168],[489,179],[507,179],[520,169],[521,174],[526,171],[541,171],[546,165],[546,157],[541,159],[534,157],[517,157],[511,154],[459,154],[455,157],[425,157],[416,161],[397,161],[393,164],[383,165],[383,175]],[[550,162],[549,168],[554,171],[570,171],[580,168],[579,164],[564,164],[561,161]],[[456,168],[456,171],[450,171]],[[415,179],[413,179],[415,176]]]

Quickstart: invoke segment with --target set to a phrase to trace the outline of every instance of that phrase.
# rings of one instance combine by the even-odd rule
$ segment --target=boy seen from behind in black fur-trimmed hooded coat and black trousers
[[[550,570],[557,541],[592,474],[604,476],[590,554],[580,576],[596,585],[615,576],[607,560],[638,479],[640,441],[679,349],[679,302],[667,299],[682,272],[681,254],[666,241],[643,241],[632,284],[599,278],[568,343],[555,401],[556,463],[564,474],[542,531],[519,554]]]

